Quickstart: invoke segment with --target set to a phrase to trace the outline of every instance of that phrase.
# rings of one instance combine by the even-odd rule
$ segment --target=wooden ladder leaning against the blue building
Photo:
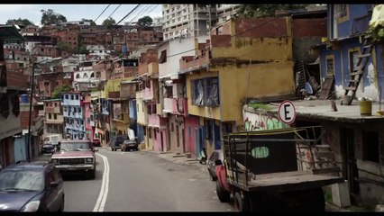
[[[359,60],[357,62],[356,68],[352,70],[352,73],[350,73],[350,81],[348,86],[344,88],[345,93],[342,105],[352,104],[353,98],[356,95],[357,87],[359,86],[361,77],[364,74],[364,69],[368,64],[368,60],[370,59],[370,55],[372,53],[373,45],[371,44],[370,35],[364,34],[361,37],[363,44],[361,55],[358,57]],[[351,94],[349,94],[350,92]]]

